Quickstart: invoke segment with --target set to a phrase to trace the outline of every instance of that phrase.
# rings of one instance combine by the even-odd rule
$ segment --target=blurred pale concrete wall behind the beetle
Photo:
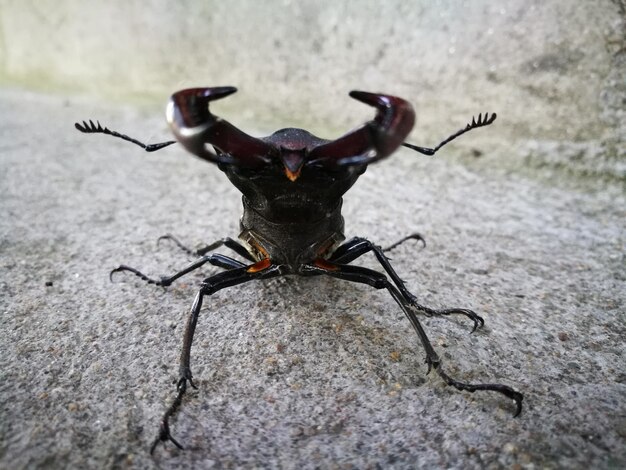
[[[151,112],[180,88],[234,85],[216,109],[236,125],[321,137],[372,115],[350,90],[384,91],[415,105],[423,146],[496,111],[480,144],[459,144],[468,164],[625,182],[625,5],[0,0],[0,84]]]

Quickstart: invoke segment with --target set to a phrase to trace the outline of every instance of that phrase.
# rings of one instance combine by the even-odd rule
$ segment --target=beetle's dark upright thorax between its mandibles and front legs
[[[289,147],[278,145],[280,155],[261,168],[220,165],[220,169],[243,194],[240,238],[259,258],[269,256],[274,263],[297,269],[343,240],[342,196],[365,171],[365,165],[336,171],[320,167],[307,161],[306,145],[294,144],[294,133],[302,137],[306,131],[285,129],[276,134],[281,133],[292,137]],[[311,146],[322,142],[308,136]],[[279,140],[275,135],[271,138]],[[302,160],[296,178],[285,170],[289,159]]]

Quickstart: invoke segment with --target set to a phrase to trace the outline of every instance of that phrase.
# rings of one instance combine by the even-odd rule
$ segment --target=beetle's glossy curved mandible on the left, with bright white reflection
[[[209,111],[209,102],[236,91],[235,87],[188,88],[178,91],[167,105],[167,122],[176,139],[203,160],[254,168],[268,162],[276,149]],[[207,144],[218,152],[209,150]]]

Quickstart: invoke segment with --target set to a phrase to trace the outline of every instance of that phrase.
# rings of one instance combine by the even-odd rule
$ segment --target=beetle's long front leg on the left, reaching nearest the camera
[[[187,319],[187,326],[185,327],[183,348],[180,355],[180,365],[178,369],[179,378],[176,385],[176,397],[163,414],[161,426],[159,427],[159,434],[150,447],[151,454],[154,452],[159,442],[171,441],[176,447],[183,449],[183,446],[170,434],[170,418],[176,413],[176,411],[178,411],[182,404],[183,396],[187,391],[187,383],[189,383],[189,385],[193,388],[196,388],[193,383],[193,374],[191,373],[191,345],[193,343],[193,336],[196,331],[196,325],[198,323],[198,317],[200,315],[200,309],[202,308],[202,300],[204,296],[212,295],[226,287],[243,284],[244,282],[255,279],[268,279],[282,274],[284,274],[282,267],[273,265],[269,263],[268,260],[265,263],[259,262],[250,266],[242,265],[237,269],[220,272],[206,278],[202,282],[202,287],[193,302],[191,312],[189,313],[189,317]]]

